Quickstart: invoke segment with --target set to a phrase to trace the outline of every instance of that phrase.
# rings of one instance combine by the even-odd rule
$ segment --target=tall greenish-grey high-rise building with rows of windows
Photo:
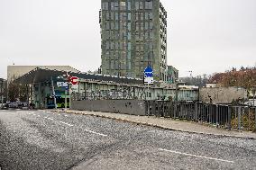
[[[167,81],[167,12],[160,0],[102,0],[102,74]]]

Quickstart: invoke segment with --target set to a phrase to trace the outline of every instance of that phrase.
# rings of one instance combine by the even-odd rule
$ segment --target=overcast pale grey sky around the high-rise
[[[180,76],[256,64],[256,0],[161,0],[168,64]],[[7,65],[100,66],[100,0],[0,0],[0,77]]]

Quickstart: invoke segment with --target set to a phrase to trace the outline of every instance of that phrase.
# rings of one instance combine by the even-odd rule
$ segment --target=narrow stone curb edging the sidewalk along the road
[[[142,121],[131,121],[131,120],[126,120],[126,119],[122,119],[122,118],[115,118],[115,117],[112,117],[112,116],[98,115],[98,114],[94,114],[94,113],[69,112],[69,111],[53,111],[53,112],[66,112],[66,113],[69,113],[69,114],[94,116],[94,117],[100,117],[100,118],[111,119],[111,120],[116,120],[116,121],[130,122],[130,123],[134,123],[134,124],[137,124],[137,125],[151,126],[151,127],[159,128],[159,129],[162,129],[162,130],[187,132],[187,133],[191,133],[191,134],[200,134],[200,135],[207,135],[207,136],[236,138],[236,139],[255,139],[256,140],[256,137],[255,138],[253,138],[253,137],[241,137],[241,136],[204,133],[204,132],[196,132],[196,131],[188,131],[188,130],[177,130],[177,129],[172,129],[172,128],[164,127],[164,126],[157,125],[157,124],[152,124],[152,123],[147,123],[147,122],[142,122]]]

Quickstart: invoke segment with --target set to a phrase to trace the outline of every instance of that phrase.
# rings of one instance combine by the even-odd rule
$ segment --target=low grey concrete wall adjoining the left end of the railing
[[[114,112],[131,115],[145,115],[142,100],[93,100],[72,101],[71,109],[78,111]]]

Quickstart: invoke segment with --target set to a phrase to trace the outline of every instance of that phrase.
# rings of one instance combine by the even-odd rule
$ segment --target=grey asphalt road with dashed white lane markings
[[[256,140],[190,134],[99,117],[0,111],[10,169],[256,169]]]

